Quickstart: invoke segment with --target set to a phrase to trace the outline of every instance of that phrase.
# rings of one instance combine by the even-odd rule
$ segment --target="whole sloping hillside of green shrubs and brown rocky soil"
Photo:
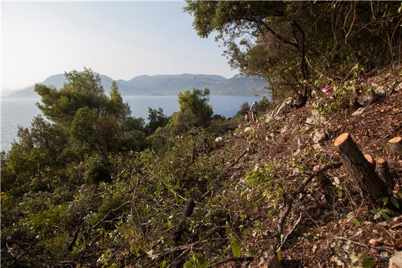
[[[385,69],[356,83],[302,108],[284,100],[260,123],[218,118],[177,135],[180,111],[137,152],[127,146],[141,132],[87,107],[54,114],[63,128],[36,120],[2,162],[2,265],[387,267],[402,249],[402,161],[389,142],[402,136],[402,80]],[[365,177],[335,146],[342,133]],[[362,189],[373,177],[392,187],[379,202],[377,187]]]

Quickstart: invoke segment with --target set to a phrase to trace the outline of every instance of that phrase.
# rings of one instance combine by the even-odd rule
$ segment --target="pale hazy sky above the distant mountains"
[[[20,89],[90,67],[111,78],[207,73],[231,77],[222,48],[201,39],[184,2],[3,2],[1,84]]]

